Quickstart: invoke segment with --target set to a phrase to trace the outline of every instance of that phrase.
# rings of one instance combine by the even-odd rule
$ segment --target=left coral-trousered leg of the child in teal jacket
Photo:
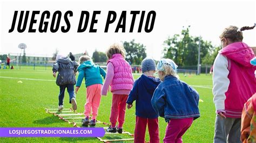
[[[95,95],[95,84],[86,88],[86,103],[84,104],[84,115],[90,117],[92,108],[92,99]]]

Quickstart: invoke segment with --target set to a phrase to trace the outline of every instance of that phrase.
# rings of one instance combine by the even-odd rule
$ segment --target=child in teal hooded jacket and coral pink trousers
[[[90,56],[80,56],[79,63],[80,66],[77,69],[79,71],[79,75],[77,78],[76,92],[79,90],[84,78],[86,86],[86,103],[84,105],[85,119],[83,121],[83,125],[87,126],[89,124],[95,126],[101,98],[100,90],[102,89],[103,84],[102,76],[105,78],[106,72],[98,65],[95,65]],[[92,118],[89,121],[91,110]]]

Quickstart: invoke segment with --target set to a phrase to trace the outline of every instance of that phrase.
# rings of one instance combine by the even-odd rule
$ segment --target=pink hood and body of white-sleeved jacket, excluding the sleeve
[[[256,92],[254,78],[256,68],[250,64],[250,60],[255,55],[252,48],[244,42],[227,45],[220,54],[227,57],[230,80],[228,90],[225,92],[225,115],[230,118],[241,118],[244,104]]]

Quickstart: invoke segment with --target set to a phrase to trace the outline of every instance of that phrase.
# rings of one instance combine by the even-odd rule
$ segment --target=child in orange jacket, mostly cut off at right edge
[[[251,60],[251,64],[256,66],[256,58]],[[256,70],[254,72],[256,78]],[[242,110],[241,117],[241,141],[256,142],[256,93],[248,99]]]

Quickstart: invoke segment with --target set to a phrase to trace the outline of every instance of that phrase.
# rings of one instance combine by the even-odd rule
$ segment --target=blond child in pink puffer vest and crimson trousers
[[[113,44],[107,49],[107,73],[102,87],[102,95],[107,94],[111,85],[112,106],[110,113],[111,125],[107,132],[122,133],[125,120],[125,105],[127,97],[133,86],[133,76],[131,66],[125,61],[125,49],[122,45]],[[116,128],[118,118],[118,126]]]

